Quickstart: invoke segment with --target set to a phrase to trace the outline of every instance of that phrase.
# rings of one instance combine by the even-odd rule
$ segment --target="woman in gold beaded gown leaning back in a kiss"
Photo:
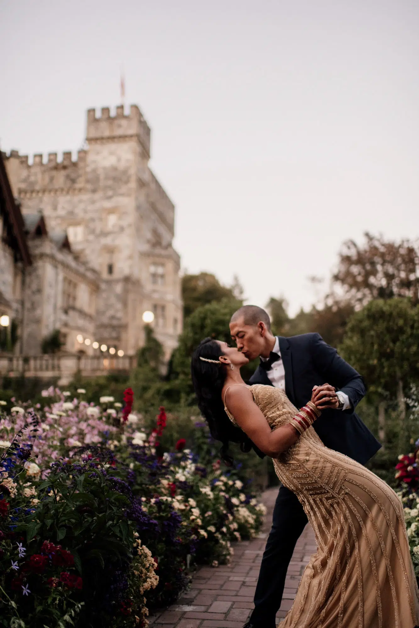
[[[403,506],[371,471],[323,445],[311,425],[333,396],[318,387],[304,408],[280,389],[246,386],[249,360],[225,342],[206,338],[192,359],[198,405],[211,434],[271,456],[279,480],[297,495],[315,531],[310,558],[281,628],[414,628],[419,592],[410,559]]]

